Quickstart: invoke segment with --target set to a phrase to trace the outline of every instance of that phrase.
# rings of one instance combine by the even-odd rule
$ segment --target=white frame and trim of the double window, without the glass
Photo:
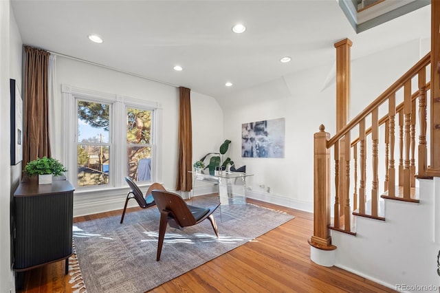
[[[140,100],[116,94],[106,94],[89,89],[81,89],[70,85],[62,85],[63,94],[63,146],[62,160],[66,166],[66,177],[75,186],[75,194],[97,194],[99,191],[109,191],[120,188],[127,188],[124,177],[127,174],[126,158],[126,109],[132,107],[151,111],[151,182],[162,182],[162,140],[158,135],[162,123],[162,108],[159,102]],[[88,102],[102,102],[110,105],[109,118],[109,184],[103,186],[78,186],[76,170],[78,167],[78,104],[77,100]],[[140,186],[148,186],[151,182],[140,182]],[[102,193],[103,195],[104,193]]]

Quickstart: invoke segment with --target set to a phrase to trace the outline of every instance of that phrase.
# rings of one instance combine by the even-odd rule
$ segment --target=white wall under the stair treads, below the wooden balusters
[[[355,236],[332,230],[335,265],[401,292],[440,292],[437,179],[419,180],[419,204],[385,199],[385,221],[357,217]]]

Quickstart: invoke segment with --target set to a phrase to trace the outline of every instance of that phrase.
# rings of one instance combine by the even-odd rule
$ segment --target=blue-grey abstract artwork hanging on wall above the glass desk
[[[241,124],[241,157],[284,158],[285,119]]]

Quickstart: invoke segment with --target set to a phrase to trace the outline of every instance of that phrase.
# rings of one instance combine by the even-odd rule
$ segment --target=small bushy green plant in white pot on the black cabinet
[[[37,158],[25,166],[28,176],[39,175],[39,184],[52,184],[52,176],[61,176],[67,171],[60,161],[54,158]]]

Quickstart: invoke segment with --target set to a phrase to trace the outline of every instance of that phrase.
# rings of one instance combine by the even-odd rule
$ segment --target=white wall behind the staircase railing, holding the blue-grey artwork
[[[419,40],[415,40],[353,61],[351,118],[426,52],[421,52]],[[334,63],[329,61],[221,100],[224,137],[232,140],[231,158],[254,174],[248,180],[250,197],[313,210],[313,135],[320,124],[331,135],[336,130]],[[241,158],[241,124],[274,118],[285,118],[285,158]],[[260,188],[261,184],[265,188]]]

